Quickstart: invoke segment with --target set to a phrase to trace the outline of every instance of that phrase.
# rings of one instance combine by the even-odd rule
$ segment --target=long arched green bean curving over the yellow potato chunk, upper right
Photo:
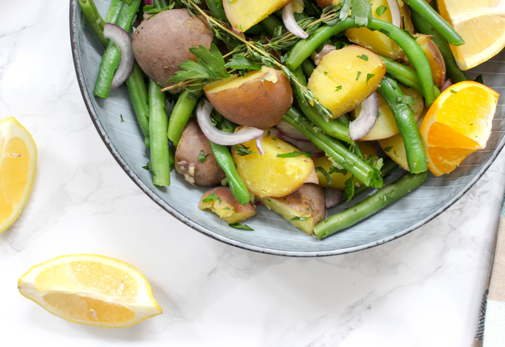
[[[354,20],[347,18],[334,25],[324,25],[312,33],[309,38],[298,41],[288,52],[286,66],[294,70],[306,60],[312,52],[326,39],[349,28],[359,27]],[[396,42],[407,54],[410,62],[416,69],[419,82],[423,88],[426,104],[431,105],[435,101],[435,90],[433,88],[433,78],[431,67],[426,54],[417,42],[406,32],[391,23],[379,19],[371,19],[366,26],[369,29],[378,30],[386,34]]]

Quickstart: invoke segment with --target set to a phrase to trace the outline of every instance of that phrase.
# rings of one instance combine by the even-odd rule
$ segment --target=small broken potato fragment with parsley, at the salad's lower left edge
[[[241,205],[229,187],[216,187],[205,192],[198,203],[198,208],[210,209],[228,223],[238,223],[256,215],[254,205],[250,202]]]

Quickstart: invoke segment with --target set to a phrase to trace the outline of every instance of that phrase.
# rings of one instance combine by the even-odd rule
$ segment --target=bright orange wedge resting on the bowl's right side
[[[498,96],[489,87],[465,81],[435,100],[420,129],[433,175],[448,174],[470,153],[486,147]]]

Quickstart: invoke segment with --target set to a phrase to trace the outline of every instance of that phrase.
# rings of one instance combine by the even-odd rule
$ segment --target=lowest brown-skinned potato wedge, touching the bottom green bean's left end
[[[313,183],[306,183],[281,198],[258,197],[258,200],[309,235],[312,235],[314,226],[326,217],[324,188]]]

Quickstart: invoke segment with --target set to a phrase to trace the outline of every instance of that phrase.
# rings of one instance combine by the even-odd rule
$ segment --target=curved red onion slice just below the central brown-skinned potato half
[[[198,103],[196,106],[196,118],[198,119],[201,132],[212,142],[219,145],[232,146],[263,135],[263,130],[252,127],[243,127],[236,133],[225,133],[217,129],[211,122],[211,111],[214,107],[207,99],[202,99],[200,102],[202,101],[204,103],[203,106],[201,103]]]

